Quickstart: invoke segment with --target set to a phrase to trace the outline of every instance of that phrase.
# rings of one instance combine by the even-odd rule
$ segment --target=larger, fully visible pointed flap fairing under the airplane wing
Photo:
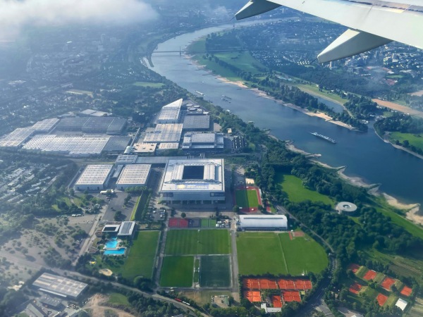
[[[389,42],[392,42],[391,39],[349,29],[326,47],[317,58],[319,59],[319,63],[336,61],[341,58],[360,54],[364,51],[369,51],[370,49],[375,49]]]

